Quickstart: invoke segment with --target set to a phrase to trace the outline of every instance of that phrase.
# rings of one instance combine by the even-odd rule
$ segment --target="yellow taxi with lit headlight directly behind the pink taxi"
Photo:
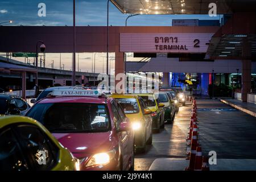
[[[136,151],[145,152],[146,144],[152,144],[152,111],[143,99],[134,94],[112,94],[123,107],[129,121],[133,122],[134,144]]]

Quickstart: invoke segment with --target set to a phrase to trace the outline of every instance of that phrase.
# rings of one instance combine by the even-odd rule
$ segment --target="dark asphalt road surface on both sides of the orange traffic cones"
[[[191,104],[180,106],[175,121],[153,135],[145,154],[135,155],[135,170],[148,170],[157,158],[186,158]],[[217,159],[256,159],[256,118],[219,100],[197,99],[199,142],[203,155]]]

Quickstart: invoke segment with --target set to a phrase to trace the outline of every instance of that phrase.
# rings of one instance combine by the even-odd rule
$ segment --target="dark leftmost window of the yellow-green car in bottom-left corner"
[[[0,132],[0,171],[25,171],[28,169],[13,131],[9,128]]]

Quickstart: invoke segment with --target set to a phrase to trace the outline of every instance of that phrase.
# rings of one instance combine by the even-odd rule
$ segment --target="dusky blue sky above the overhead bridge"
[[[46,4],[46,17],[38,16],[38,4]],[[77,26],[105,26],[106,0],[77,0]],[[110,3],[109,24],[124,26],[126,14]],[[0,22],[13,20],[12,25],[23,26],[72,26],[73,0],[1,0]],[[208,15],[138,15],[128,20],[128,26],[171,26],[172,19],[219,19]],[[7,25],[7,24],[6,24]],[[9,24],[10,25],[10,24]]]

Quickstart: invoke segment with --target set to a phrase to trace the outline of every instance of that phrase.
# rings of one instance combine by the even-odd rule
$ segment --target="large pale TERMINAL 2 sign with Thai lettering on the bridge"
[[[212,33],[120,34],[121,52],[205,53]]]

